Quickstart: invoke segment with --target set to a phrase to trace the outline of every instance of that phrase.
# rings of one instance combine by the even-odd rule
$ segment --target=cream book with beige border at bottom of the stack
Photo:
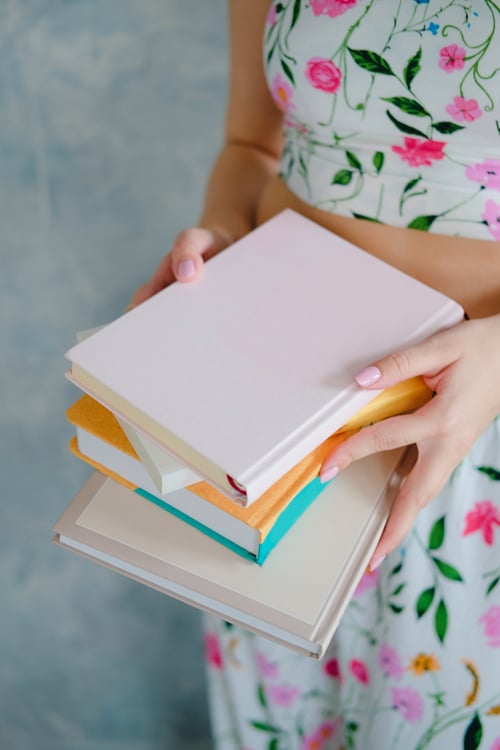
[[[413,460],[411,452],[396,450],[353,464],[326,487],[263,566],[233,555],[97,472],[55,524],[54,541],[320,658]]]

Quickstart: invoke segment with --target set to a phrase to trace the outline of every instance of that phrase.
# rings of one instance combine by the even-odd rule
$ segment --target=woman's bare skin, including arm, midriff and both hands
[[[411,415],[387,419],[339,445],[322,476],[371,453],[416,444],[418,458],[374,552],[377,567],[442,489],[487,425],[500,414],[500,246],[335,216],[302,203],[277,176],[282,115],[267,88],[261,40],[268,0],[230,0],[230,86],[224,145],[211,171],[198,226],[174,240],[131,306],[178,280],[283,208],[293,208],[415,278],[456,299],[471,320],[378,362],[385,388],[422,375],[436,395]],[[244,175],[244,179],[242,179]],[[284,269],[285,271],[286,269]],[[325,332],[328,346],[328,332]]]

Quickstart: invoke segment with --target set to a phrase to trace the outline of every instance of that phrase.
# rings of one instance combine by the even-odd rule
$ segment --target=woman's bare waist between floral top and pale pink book
[[[500,312],[500,246],[340,216],[309,205],[279,177],[262,194],[257,221],[285,208],[316,221],[390,265],[455,299],[470,317]]]

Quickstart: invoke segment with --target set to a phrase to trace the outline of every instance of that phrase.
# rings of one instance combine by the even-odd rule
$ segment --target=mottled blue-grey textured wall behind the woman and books
[[[50,544],[64,351],[198,214],[223,0],[0,2],[0,748],[208,750],[198,615]]]

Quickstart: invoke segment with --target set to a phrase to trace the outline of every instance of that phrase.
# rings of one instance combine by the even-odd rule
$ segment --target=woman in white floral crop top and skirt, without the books
[[[500,750],[500,5],[233,0],[230,32],[225,145],[199,225],[133,303],[196,280],[291,207],[470,320],[355,375],[366,388],[423,375],[436,396],[323,466],[328,479],[418,448],[326,657],[207,622],[216,747]]]

